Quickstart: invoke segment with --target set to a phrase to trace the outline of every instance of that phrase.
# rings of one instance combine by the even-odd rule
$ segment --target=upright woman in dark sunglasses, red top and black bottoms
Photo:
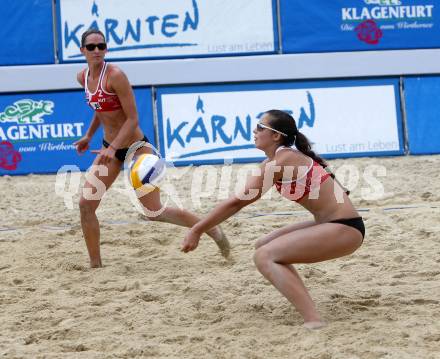
[[[105,190],[100,190],[99,181],[95,183],[86,180],[79,202],[81,227],[90,256],[90,266],[96,268],[102,266],[96,209],[105,191],[121,171],[129,147],[138,141],[148,142],[148,139],[139,127],[134,94],[127,76],[116,65],[104,61],[107,53],[104,34],[96,29],[84,32],[81,38],[81,52],[87,60],[87,69],[78,73],[77,80],[84,87],[86,102],[95,113],[85,136],[75,142],[77,151],[81,153],[89,148],[90,140],[100,125],[104,130],[103,146],[97,151],[98,155],[90,171],[103,183]],[[152,153],[152,150],[144,146],[138,149],[135,155],[141,153]],[[101,167],[101,171],[98,171],[95,167],[97,165],[105,166],[106,170],[102,171]],[[139,200],[148,210],[147,213],[160,213],[157,216],[147,214],[150,220],[186,227],[193,226],[199,220],[194,214],[183,209],[162,209],[159,189],[142,196]],[[227,255],[229,243],[220,228],[215,227],[207,234],[216,241],[222,254]]]

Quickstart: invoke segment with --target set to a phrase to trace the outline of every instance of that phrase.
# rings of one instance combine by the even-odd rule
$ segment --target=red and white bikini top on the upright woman
[[[118,95],[115,93],[107,92],[102,86],[102,79],[104,78],[105,71],[107,70],[107,63],[104,63],[101,74],[99,75],[98,86],[95,92],[90,92],[88,87],[89,68],[84,72],[84,90],[86,92],[87,104],[96,112],[116,111],[119,110],[121,102]]]

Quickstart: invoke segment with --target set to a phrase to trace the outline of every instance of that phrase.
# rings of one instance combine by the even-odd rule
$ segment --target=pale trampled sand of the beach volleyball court
[[[0,357],[440,358],[440,156],[331,161],[345,164],[385,166],[385,193],[362,199],[361,180],[351,195],[365,210],[361,249],[298,266],[328,322],[317,331],[252,261],[259,236],[310,217],[278,194],[223,225],[231,264],[208,237],[181,253],[186,230],[141,221],[120,177],[98,211],[104,268],[90,270],[55,176],[0,177]],[[206,213],[217,193],[194,207],[193,172],[172,183]],[[284,214],[255,216],[273,212]]]

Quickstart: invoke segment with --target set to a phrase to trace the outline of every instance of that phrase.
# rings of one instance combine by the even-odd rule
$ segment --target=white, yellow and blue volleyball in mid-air
[[[165,160],[156,155],[143,153],[133,158],[129,165],[129,171],[133,188],[149,193],[158,188],[160,181],[165,176],[166,164]]]

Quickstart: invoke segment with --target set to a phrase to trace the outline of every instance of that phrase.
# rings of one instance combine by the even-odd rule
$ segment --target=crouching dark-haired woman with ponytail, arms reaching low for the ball
[[[283,196],[307,209],[313,220],[289,224],[257,240],[254,261],[261,274],[301,313],[304,325],[319,328],[324,323],[292,264],[353,253],[362,244],[364,223],[290,115],[267,111],[254,130],[254,140],[267,156],[260,166],[261,174],[250,176],[242,193],[221,202],[194,225],[182,243],[182,251],[194,250],[203,232],[255,202],[275,185]],[[297,150],[291,147],[293,144]]]

